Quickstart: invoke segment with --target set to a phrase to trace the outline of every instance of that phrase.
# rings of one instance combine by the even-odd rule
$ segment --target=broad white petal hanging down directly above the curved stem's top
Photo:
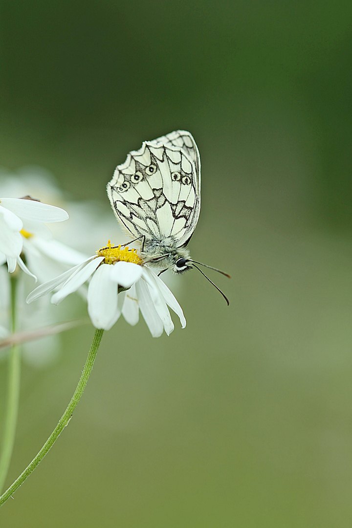
[[[117,282],[110,278],[110,264],[102,264],[88,287],[88,313],[96,328],[110,330],[121,314],[118,308]]]

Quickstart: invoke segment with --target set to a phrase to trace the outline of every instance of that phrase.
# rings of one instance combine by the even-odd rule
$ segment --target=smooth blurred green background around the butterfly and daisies
[[[170,337],[123,320],[84,397],[0,526],[350,528],[352,5],[1,3],[0,164],[75,199],[181,128],[202,212]],[[111,213],[112,214],[112,213]],[[103,239],[113,233],[103,233]],[[93,335],[24,366],[8,484],[68,403]],[[5,376],[1,374],[1,394]]]

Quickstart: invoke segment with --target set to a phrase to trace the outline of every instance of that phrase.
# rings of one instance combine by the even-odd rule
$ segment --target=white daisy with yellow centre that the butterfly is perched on
[[[153,337],[159,337],[164,330],[169,335],[174,324],[167,306],[178,315],[182,327],[186,326],[176,298],[144,264],[137,250],[113,247],[110,240],[94,256],[35,288],[26,301],[32,303],[56,289],[51,302],[59,304],[89,279],[88,313],[96,328],[109,330],[121,314],[129,324],[136,325],[140,310]]]

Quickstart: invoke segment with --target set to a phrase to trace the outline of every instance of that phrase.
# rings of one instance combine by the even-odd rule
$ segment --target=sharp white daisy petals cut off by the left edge
[[[23,198],[0,198],[0,265],[7,262],[10,273],[20,266],[36,278],[21,258],[24,240],[42,235],[44,223],[62,222],[69,215],[63,209]]]

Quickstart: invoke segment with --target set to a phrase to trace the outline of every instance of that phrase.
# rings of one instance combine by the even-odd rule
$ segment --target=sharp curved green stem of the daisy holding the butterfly
[[[0,506],[2,506],[4,502],[6,502],[9,497],[11,497],[11,495],[21,486],[21,484],[24,483],[25,479],[30,476],[30,474],[37,467],[37,465],[40,464],[40,462],[43,460],[46,453],[52,447],[54,442],[59,438],[60,433],[62,432],[64,427],[68,425],[69,421],[71,420],[72,413],[74,409],[77,407],[77,404],[81,399],[85,385],[87,385],[88,378],[92,372],[94,360],[96,359],[96,355],[98,352],[98,348],[99,348],[103,333],[104,331],[102,329],[96,329],[96,333],[94,334],[93,342],[91,344],[90,351],[87,357],[87,362],[84,365],[81,378],[78,382],[77,388],[74,391],[74,394],[72,396],[72,399],[68,407],[66,408],[61,419],[59,420],[58,425],[55,427],[50,437],[46,440],[45,444],[43,445],[42,449],[39,451],[37,456],[33,458],[31,464],[26,467],[24,472],[21,473],[21,475],[6,490],[6,492],[3,495],[1,495]]]

